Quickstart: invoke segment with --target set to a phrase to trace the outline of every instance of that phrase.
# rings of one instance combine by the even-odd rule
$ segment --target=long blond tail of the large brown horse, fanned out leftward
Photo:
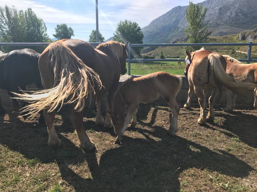
[[[99,75],[61,42],[49,45],[49,56],[55,86],[33,94],[16,94],[19,97],[17,99],[30,102],[22,110],[31,119],[45,108],[49,108],[48,112],[53,112],[60,104],[60,109],[63,104],[75,104],[74,109],[81,111],[85,107],[85,98],[93,98],[94,83],[100,88],[102,86]]]

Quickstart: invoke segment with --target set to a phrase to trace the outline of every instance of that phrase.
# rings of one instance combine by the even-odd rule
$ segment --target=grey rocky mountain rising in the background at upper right
[[[257,0],[206,0],[205,23],[211,36],[236,34],[257,27]],[[164,43],[185,36],[185,9],[174,7],[142,28],[144,43]]]

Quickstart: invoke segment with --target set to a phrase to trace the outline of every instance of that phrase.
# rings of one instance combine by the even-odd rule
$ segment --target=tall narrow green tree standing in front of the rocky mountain
[[[204,25],[204,19],[206,16],[207,7],[203,9],[202,4],[196,4],[189,1],[188,9],[185,10],[186,22],[188,26],[185,29],[186,37],[188,37],[187,43],[206,43],[209,41],[208,36],[211,32],[207,29],[207,25]],[[192,49],[198,49],[199,47],[192,47]]]

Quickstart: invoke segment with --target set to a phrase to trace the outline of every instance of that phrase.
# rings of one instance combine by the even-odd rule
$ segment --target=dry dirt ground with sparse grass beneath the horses
[[[67,109],[56,115],[59,148],[47,146],[47,129],[37,121],[5,115],[0,191],[257,191],[257,110],[226,113],[221,107],[204,126],[197,125],[198,105],[181,108],[178,132],[168,136],[167,104],[140,104],[136,129],[128,127],[120,145],[113,129],[97,127],[86,110],[92,152],[79,147]]]

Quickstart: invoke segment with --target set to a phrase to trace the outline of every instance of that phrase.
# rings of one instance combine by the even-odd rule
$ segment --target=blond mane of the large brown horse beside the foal
[[[107,41],[105,43],[99,44],[96,49],[104,49],[104,50],[109,50],[114,57],[117,59],[121,59],[123,57],[123,50],[124,46],[122,46],[121,43],[117,41]]]

